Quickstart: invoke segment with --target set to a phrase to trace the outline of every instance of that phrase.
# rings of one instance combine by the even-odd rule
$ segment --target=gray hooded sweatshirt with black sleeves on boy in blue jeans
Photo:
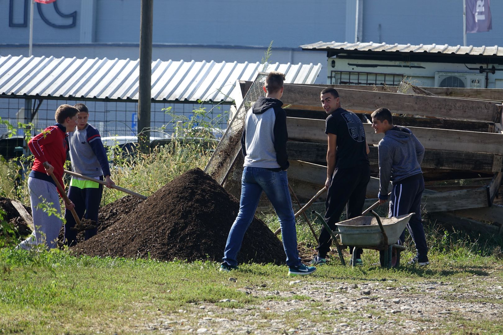
[[[283,102],[260,97],[246,113],[241,137],[244,166],[286,170],[288,132]]]

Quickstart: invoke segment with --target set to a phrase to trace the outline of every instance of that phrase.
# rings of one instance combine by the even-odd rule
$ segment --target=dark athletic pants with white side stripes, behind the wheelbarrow
[[[393,183],[393,189],[389,198],[388,213],[388,217],[415,213],[410,217],[407,229],[414,241],[417,256],[420,259],[424,259],[428,254],[425,230],[423,228],[423,221],[421,220],[421,196],[424,190],[425,180],[422,173]],[[404,239],[405,230],[400,236],[401,244],[403,244]]]

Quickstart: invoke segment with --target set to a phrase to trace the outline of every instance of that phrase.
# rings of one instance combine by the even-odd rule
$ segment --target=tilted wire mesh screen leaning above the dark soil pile
[[[243,102],[227,127],[227,130],[218,143],[215,151],[204,168],[213,179],[220,185],[223,184],[230,168],[234,164],[239,151],[241,150],[241,135],[243,133],[244,118],[251,105],[261,96],[265,96],[264,83],[268,73],[259,72],[255,81],[251,84],[248,92],[244,96]]]

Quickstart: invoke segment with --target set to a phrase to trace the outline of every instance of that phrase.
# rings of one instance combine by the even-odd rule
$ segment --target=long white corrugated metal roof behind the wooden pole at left
[[[152,62],[152,99],[231,100],[236,80],[254,80],[263,65],[214,61]],[[311,84],[321,64],[269,64],[286,83]],[[138,99],[139,60],[0,57],[0,94],[97,99]]]

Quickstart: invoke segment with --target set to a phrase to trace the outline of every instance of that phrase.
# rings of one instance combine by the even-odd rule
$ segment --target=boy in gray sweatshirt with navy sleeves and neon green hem
[[[77,129],[68,135],[71,168],[73,172],[103,180],[107,187],[115,185],[110,179],[110,167],[107,154],[101,142],[98,129],[88,124],[89,109],[83,103],[77,103]],[[91,180],[71,177],[68,188],[68,198],[75,203],[78,217],[86,213],[85,218],[93,220],[98,226],[98,210],[100,208],[103,185]],[[77,232],[72,230],[75,219],[69,210],[65,210],[66,224],[64,225],[64,243],[72,246],[76,243]],[[98,228],[86,230],[85,239],[88,240],[98,233]]]

